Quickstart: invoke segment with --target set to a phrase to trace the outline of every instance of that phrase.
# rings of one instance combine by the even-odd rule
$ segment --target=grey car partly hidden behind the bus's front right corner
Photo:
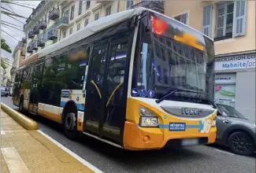
[[[216,143],[228,146],[233,153],[251,155],[255,151],[255,122],[247,120],[235,108],[217,104]]]

